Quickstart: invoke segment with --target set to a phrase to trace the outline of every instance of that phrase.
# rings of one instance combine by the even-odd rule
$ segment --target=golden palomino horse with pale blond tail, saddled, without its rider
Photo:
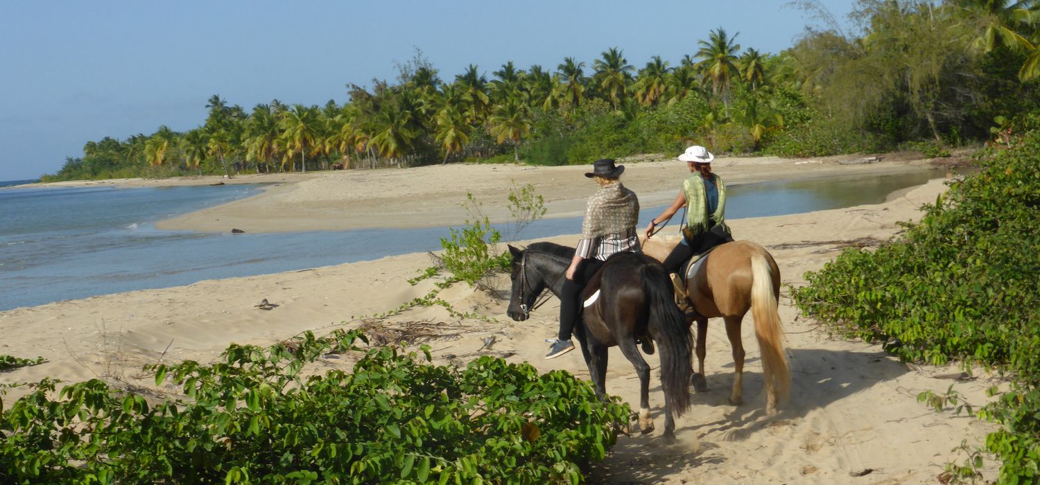
[[[654,238],[643,242],[645,254],[665,261],[678,237]],[[790,370],[783,349],[783,329],[777,314],[780,295],[780,269],[764,247],[751,241],[733,241],[716,247],[697,272],[687,280],[686,296],[702,317],[697,320],[697,360],[693,384],[697,392],[707,390],[704,379],[705,338],[708,318],[722,317],[726,336],[733,347],[736,375],[729,401],[744,401],[744,344],[740,322],[750,309],[755,318],[755,336],[762,354],[765,381],[765,410],[776,413],[777,402],[790,388]]]

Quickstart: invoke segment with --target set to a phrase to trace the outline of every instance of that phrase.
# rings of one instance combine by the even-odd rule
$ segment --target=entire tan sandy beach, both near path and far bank
[[[851,157],[847,157],[851,158]],[[675,161],[626,163],[625,184],[640,194],[644,207],[670,201],[685,167]],[[922,170],[927,160],[889,160],[842,165],[838,159],[785,160],[720,158],[714,169],[729,184]],[[161,228],[227,232],[344,230],[458,224],[465,218],[460,200],[466,192],[485,203],[496,220],[504,209],[511,182],[535,184],[552,216],[580,215],[594,185],[583,183],[587,167],[520,165],[448,165],[407,170],[347,170],[288,176],[237,177],[234,183],[274,182],[263,194],[187,214],[158,224]],[[213,183],[203,178],[196,183]],[[172,183],[190,183],[188,181]],[[81,183],[82,184],[82,183]],[[156,185],[152,181],[116,182],[123,186]],[[738,239],[765,246],[776,258],[786,285],[804,284],[806,271],[817,270],[853,241],[872,244],[898,234],[898,222],[919,217],[921,204],[945,189],[943,180],[893,193],[879,205],[731,221]],[[666,230],[667,232],[669,230]],[[672,227],[674,231],[674,226]],[[575,236],[553,239],[573,244]],[[520,242],[523,244],[524,242]],[[269,345],[301,331],[378,325],[385,331],[416,326],[438,336],[432,346],[437,363],[465,365],[480,354],[528,361],[542,371],[565,369],[583,378],[588,371],[579,352],[544,360],[556,329],[558,303],[553,299],[525,322],[505,316],[506,301],[474,291],[465,284],[441,293],[459,312],[488,318],[459,319],[443,307],[417,307],[380,320],[362,319],[398,307],[424,295],[435,280],[411,286],[408,279],[431,266],[425,253],[308,270],[205,280],[185,287],[67,300],[0,313],[0,353],[44,356],[46,363],[0,373],[0,382],[35,381],[46,376],[69,381],[107,377],[154,387],[142,375],[145,363],[183,359],[208,361],[230,343]],[[509,278],[497,288],[509,290]],[[781,292],[792,368],[792,393],[779,414],[764,414],[758,347],[751,317],[743,326],[747,366],[742,406],[727,403],[732,358],[721,320],[707,335],[709,392],[693,396],[694,406],[677,422],[677,444],[654,433],[621,437],[610,456],[594,465],[594,483],[934,483],[948,461],[963,462],[955,450],[962,440],[981,442],[990,426],[953,412],[935,412],[917,403],[926,389],[957,390],[972,405],[987,401],[985,389],[997,383],[981,376],[951,380],[959,368],[900,362],[878,345],[832,338],[817,322],[799,317]],[[276,306],[255,307],[261,299]],[[494,336],[488,348],[485,339]],[[657,356],[651,405],[662,424],[662,396]],[[328,366],[344,366],[329,360]],[[607,390],[636,401],[638,378],[620,351],[610,350]],[[19,396],[14,389],[5,401]],[[170,390],[170,389],[160,389]],[[987,461],[987,478],[997,464]]]

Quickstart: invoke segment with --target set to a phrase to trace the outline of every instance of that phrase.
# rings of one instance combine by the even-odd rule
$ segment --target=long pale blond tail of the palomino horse
[[[755,336],[762,354],[765,390],[784,399],[790,390],[790,369],[787,367],[783,328],[777,313],[776,295],[779,289],[773,286],[773,271],[762,252],[752,253],[751,275],[751,312],[755,317]]]

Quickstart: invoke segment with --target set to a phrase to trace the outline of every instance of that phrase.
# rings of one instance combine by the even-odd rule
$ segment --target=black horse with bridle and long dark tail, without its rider
[[[560,296],[564,274],[574,257],[574,248],[539,242],[520,250],[509,246],[513,255],[512,296],[506,314],[522,322],[537,307],[536,300],[545,289]],[[671,281],[659,263],[642,254],[619,253],[591,278],[581,296],[587,305],[575,325],[596,396],[606,399],[607,348],[618,346],[640,377],[640,430],[653,431],[650,419],[650,366],[636,348],[636,340],[651,353],[653,344],[660,350],[661,388],[665,393],[665,437],[674,439],[675,421],[690,407],[690,377],[693,342],[690,324],[675,305]]]

